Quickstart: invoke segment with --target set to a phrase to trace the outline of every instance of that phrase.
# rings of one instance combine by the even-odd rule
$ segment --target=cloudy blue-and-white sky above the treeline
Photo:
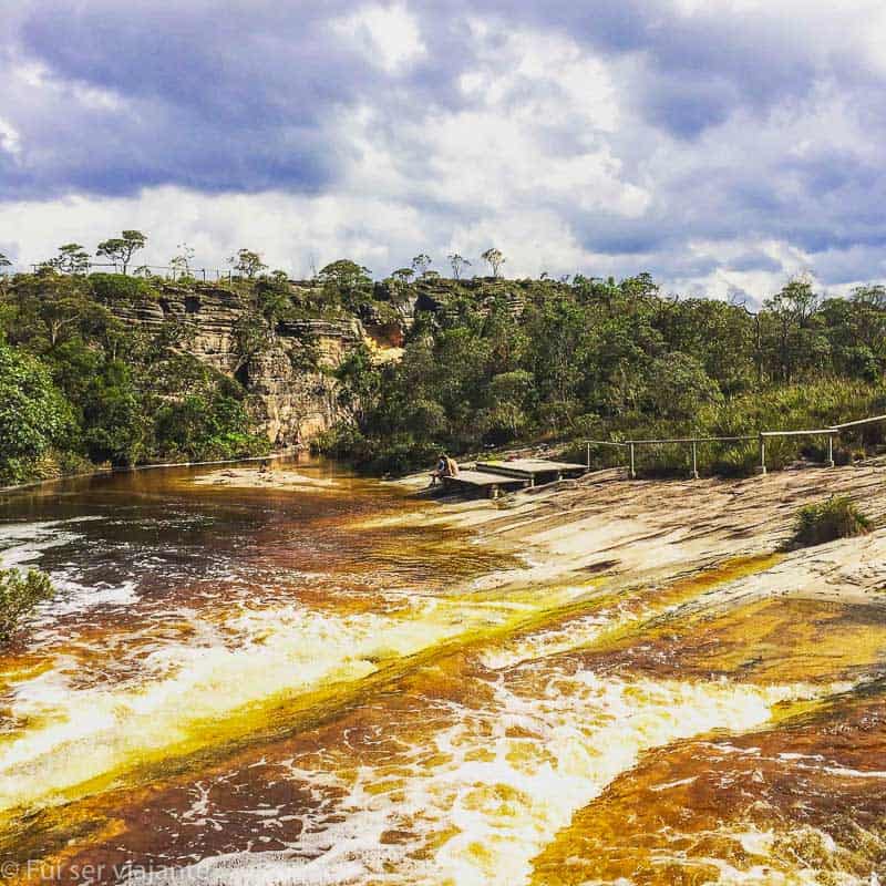
[[[0,253],[886,277],[882,0],[6,0]]]

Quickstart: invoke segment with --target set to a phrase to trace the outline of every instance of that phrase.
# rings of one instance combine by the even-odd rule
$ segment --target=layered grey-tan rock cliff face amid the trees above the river
[[[280,322],[268,347],[244,360],[236,327],[246,312],[237,292],[212,286],[166,286],[155,302],[115,310],[125,322],[146,328],[186,322],[187,350],[244,384],[256,422],[275,445],[309,442],[339,418],[330,370],[367,339],[367,330],[357,319]]]

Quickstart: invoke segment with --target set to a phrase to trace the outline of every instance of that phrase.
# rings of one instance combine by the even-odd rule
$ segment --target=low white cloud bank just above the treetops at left
[[[148,235],[140,262],[165,265],[186,241],[196,250],[196,266],[208,268],[210,277],[227,269],[227,257],[240,247],[258,249],[272,268],[296,276],[308,275],[311,264],[321,267],[342,256],[382,276],[393,267],[395,245],[405,245],[411,254],[421,246],[414,209],[348,194],[210,196],[159,187],[137,197],[0,204],[0,230],[12,240],[10,251],[22,270],[54,255],[60,244],[94,249],[124,227]]]

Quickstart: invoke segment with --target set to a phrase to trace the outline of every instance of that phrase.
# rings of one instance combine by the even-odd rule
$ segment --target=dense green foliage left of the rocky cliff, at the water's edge
[[[243,388],[188,353],[193,328],[115,312],[152,299],[123,275],[44,268],[3,285],[0,483],[264,451]]]

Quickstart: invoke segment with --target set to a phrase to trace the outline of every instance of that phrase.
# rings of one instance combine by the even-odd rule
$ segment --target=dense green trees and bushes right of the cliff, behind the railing
[[[400,362],[377,365],[356,353],[342,367],[349,418],[326,436],[327,451],[396,472],[441,447],[741,435],[886,412],[882,287],[823,299],[810,281],[793,280],[754,313],[663,298],[647,275],[446,285],[433,310],[419,300]],[[876,427],[864,433],[855,447],[879,442]],[[773,441],[770,464],[815,445]],[[602,447],[591,455],[600,464],[621,457]],[[741,443],[700,455],[721,473],[746,473],[758,457],[755,444]],[[684,470],[687,457],[686,447],[645,449],[640,468]]]

